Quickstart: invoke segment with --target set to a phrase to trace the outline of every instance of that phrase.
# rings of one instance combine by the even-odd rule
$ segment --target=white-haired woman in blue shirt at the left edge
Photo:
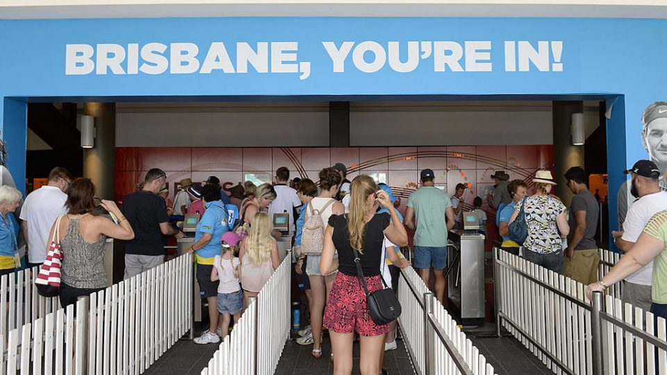
[[[22,197],[15,188],[0,186],[0,276],[11,274],[21,267],[16,243],[18,227],[10,216],[19,207]]]

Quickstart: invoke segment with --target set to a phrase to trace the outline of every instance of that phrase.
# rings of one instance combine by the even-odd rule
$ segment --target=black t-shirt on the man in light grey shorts
[[[134,239],[125,245],[126,254],[165,254],[160,223],[169,222],[165,200],[147,191],[126,195],[120,209],[134,230]]]

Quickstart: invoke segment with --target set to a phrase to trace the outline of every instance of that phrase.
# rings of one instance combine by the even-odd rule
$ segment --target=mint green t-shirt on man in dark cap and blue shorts
[[[445,209],[452,207],[447,193],[434,186],[422,186],[410,194],[407,206],[415,210],[415,246],[446,247]]]

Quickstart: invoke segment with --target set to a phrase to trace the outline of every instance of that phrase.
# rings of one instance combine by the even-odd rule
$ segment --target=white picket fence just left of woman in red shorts
[[[288,252],[201,375],[274,373],[290,336],[291,269]]]

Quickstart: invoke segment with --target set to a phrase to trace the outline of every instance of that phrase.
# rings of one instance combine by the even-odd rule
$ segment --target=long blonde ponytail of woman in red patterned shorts
[[[356,176],[349,185],[349,220],[347,229],[349,231],[349,244],[353,249],[363,253],[363,233],[366,228],[366,217],[368,215],[368,196],[377,192],[379,188],[375,181],[365,174]]]

